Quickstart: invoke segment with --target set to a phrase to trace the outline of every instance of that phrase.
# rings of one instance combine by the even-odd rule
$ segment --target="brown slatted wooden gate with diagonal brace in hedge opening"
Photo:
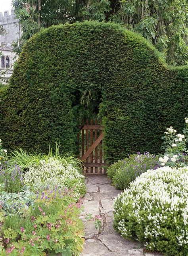
[[[84,171],[86,173],[106,173],[106,167],[108,166],[104,161],[104,148],[102,139],[104,137],[104,126],[102,121],[97,119],[90,121],[82,120],[82,124],[79,126],[80,132],[78,134],[79,139],[79,158],[83,161]]]

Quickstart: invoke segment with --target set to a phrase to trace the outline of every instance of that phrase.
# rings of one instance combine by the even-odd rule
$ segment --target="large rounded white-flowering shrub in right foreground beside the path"
[[[114,199],[114,228],[149,250],[188,252],[188,167],[148,170]]]

